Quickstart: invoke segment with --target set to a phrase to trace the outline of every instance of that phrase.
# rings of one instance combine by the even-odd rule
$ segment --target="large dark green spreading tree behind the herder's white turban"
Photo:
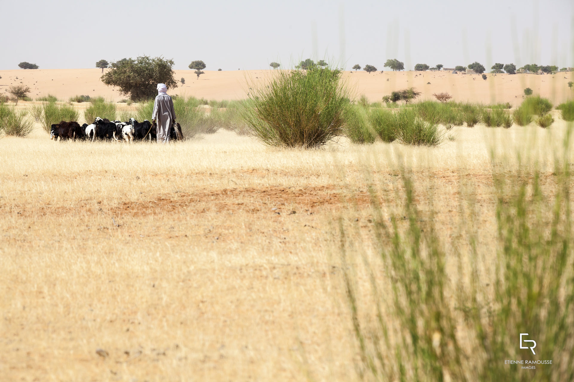
[[[112,62],[110,70],[100,78],[108,86],[118,86],[120,93],[129,94],[133,101],[147,100],[156,96],[158,83],[177,87],[173,64],[173,60],[161,57],[126,58]]]

